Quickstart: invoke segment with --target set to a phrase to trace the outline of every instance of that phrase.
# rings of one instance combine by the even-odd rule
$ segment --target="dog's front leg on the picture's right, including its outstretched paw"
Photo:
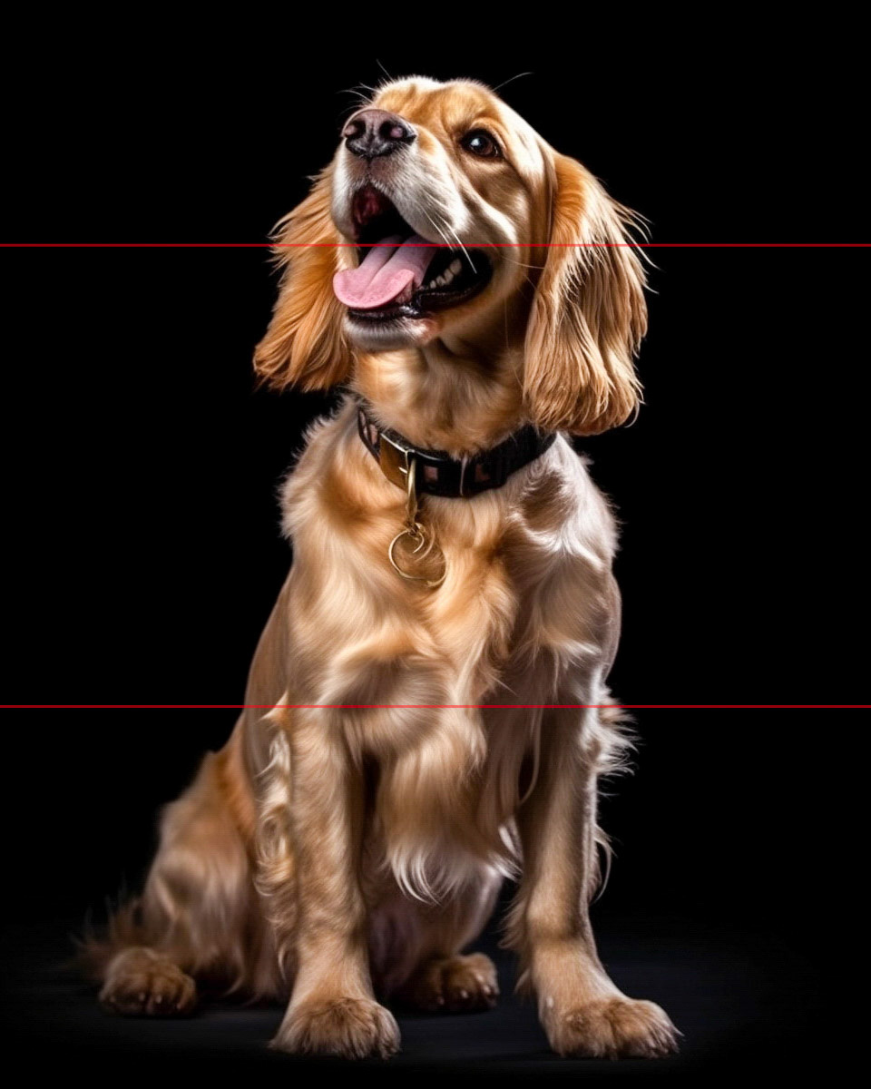
[[[588,901],[596,882],[597,762],[606,730],[596,710],[552,711],[542,724],[538,778],[518,811],[524,878],[513,931],[525,982],[538,995],[562,1055],[653,1057],[676,1032],[652,1002],[627,999],[596,952]]]

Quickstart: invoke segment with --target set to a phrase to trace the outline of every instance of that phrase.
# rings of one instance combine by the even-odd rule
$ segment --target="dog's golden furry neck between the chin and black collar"
[[[463,457],[516,431],[523,414],[520,350],[491,355],[437,340],[361,355],[354,390],[382,426],[417,446]]]

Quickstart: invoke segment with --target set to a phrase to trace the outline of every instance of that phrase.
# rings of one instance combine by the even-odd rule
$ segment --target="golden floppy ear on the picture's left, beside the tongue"
[[[332,286],[341,252],[334,243],[342,240],[330,217],[331,176],[331,167],[321,171],[309,195],[273,234],[274,257],[283,271],[254,367],[278,389],[329,389],[345,380],[353,363],[342,333],[342,304]]]

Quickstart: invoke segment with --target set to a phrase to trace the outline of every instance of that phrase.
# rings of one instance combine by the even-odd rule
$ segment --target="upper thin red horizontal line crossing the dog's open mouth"
[[[402,242],[400,246],[457,249],[445,242]],[[466,242],[475,249],[522,247],[566,248],[572,246],[627,246],[634,249],[867,249],[871,242]],[[364,248],[394,243],[367,243]],[[356,242],[0,242],[0,249],[299,249],[306,247],[359,248]]]

